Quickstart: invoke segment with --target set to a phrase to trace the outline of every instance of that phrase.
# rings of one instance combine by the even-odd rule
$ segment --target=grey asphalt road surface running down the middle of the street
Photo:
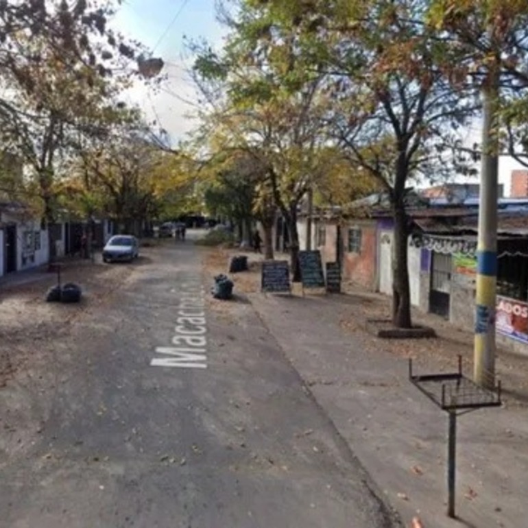
[[[251,305],[208,307],[200,251],[150,250],[61,342],[42,431],[0,464],[1,527],[393,526]]]

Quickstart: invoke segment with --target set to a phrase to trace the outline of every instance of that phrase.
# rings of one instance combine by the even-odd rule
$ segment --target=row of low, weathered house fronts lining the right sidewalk
[[[475,328],[478,208],[409,209],[411,304],[453,325]],[[300,233],[306,233],[300,220]],[[389,212],[369,218],[314,218],[313,249],[339,262],[352,285],[392,296],[394,222]],[[306,239],[301,237],[301,248]],[[499,208],[496,340],[528,355],[528,204]]]

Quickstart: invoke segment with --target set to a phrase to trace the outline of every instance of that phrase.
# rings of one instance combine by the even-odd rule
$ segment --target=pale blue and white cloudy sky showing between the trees
[[[206,38],[214,47],[221,46],[225,29],[216,20],[215,0],[123,0],[112,25],[125,36],[143,43],[152,56],[163,58],[168,78],[160,90],[156,93],[153,88],[139,84],[127,97],[129,102],[141,106],[149,121],[156,121],[167,130],[176,145],[195,125],[189,117],[195,88],[187,73],[192,58],[185,49],[184,36]],[[468,145],[478,143],[480,135],[477,121],[468,130]],[[512,169],[521,168],[512,158],[500,159],[499,182],[504,184],[505,195],[509,195]]]

